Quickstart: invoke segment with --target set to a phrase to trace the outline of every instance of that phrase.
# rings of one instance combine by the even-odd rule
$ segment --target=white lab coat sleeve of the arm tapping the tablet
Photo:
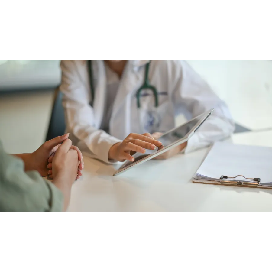
[[[70,133],[70,139],[84,154],[106,163],[114,163],[108,160],[108,152],[121,140],[96,128],[93,108],[90,105],[90,87],[86,86],[82,80],[84,75],[80,74],[84,71],[82,65],[86,66],[86,63],[76,59],[63,59],[60,64],[60,91],[63,93],[66,132]]]

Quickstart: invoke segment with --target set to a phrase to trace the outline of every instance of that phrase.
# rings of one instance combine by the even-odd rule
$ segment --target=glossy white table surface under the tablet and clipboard
[[[272,131],[237,134],[233,142],[272,146]],[[150,160],[116,177],[112,166],[84,157],[68,212],[272,212],[272,190],[192,183],[206,152]]]

